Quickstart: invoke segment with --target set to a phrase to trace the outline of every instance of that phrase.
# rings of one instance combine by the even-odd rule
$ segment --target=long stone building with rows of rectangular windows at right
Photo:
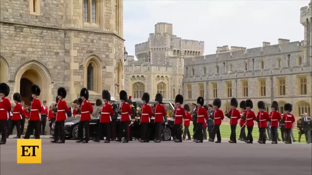
[[[222,100],[230,110],[230,99],[264,101],[267,110],[277,101],[280,111],[291,103],[295,116],[312,114],[311,3],[301,8],[300,22],[305,27],[304,41],[278,39],[278,44],[263,42],[262,47],[217,47],[215,54],[184,59],[183,95],[186,103],[198,96],[206,103]]]

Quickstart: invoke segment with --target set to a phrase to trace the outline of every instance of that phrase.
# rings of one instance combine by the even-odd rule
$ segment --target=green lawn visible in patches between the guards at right
[[[246,130],[246,135],[247,135],[247,128],[245,128],[245,130]],[[228,124],[221,124],[220,132],[221,132],[222,138],[230,138],[231,126]],[[190,125],[190,133],[191,133],[191,136],[193,136],[193,124]],[[239,138],[239,133],[240,133],[240,126],[237,125],[237,127],[236,127],[236,139]],[[278,129],[278,134],[279,134],[279,138],[282,140],[280,129]],[[296,128],[293,129],[293,136],[294,136],[295,140],[298,141],[298,130]],[[208,137],[208,133],[207,133],[207,137]],[[258,140],[258,138],[259,138],[259,129],[256,125],[254,126],[253,137],[254,137],[254,140]],[[303,143],[306,142],[304,135],[301,135],[300,142],[303,142]]]

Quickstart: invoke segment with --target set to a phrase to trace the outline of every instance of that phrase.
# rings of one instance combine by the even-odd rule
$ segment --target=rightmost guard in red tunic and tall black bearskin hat
[[[285,104],[284,110],[286,113],[283,116],[283,120],[285,121],[285,143],[292,144],[291,132],[292,132],[292,123],[294,123],[294,116],[292,112],[292,105]]]

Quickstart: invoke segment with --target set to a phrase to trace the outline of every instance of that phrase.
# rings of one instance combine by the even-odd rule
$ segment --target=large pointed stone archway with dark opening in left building
[[[30,88],[32,85],[38,85],[41,89],[40,101],[46,100],[52,103],[53,97],[51,76],[46,67],[38,61],[30,61],[23,64],[15,74],[14,92],[20,92],[22,99],[27,105],[30,105]]]

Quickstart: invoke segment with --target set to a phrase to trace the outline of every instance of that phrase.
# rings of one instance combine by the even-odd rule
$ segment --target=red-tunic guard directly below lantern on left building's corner
[[[122,134],[125,132],[125,140],[123,140],[123,143],[128,143],[129,142],[129,125],[131,121],[131,114],[132,114],[132,109],[129,103],[126,101],[128,100],[127,97],[127,92],[124,90],[121,90],[119,92],[119,99],[121,101],[121,106],[119,110],[119,114],[121,114],[121,119],[120,119],[120,130],[118,133],[118,140],[121,141],[122,139]]]

